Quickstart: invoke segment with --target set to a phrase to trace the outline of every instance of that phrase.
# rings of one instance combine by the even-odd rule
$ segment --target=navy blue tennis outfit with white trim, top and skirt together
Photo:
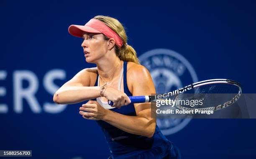
[[[126,72],[127,62],[124,61],[120,80],[123,76],[124,93],[127,96],[132,96],[127,86]],[[120,90],[120,80],[118,90]],[[97,75],[95,82],[95,86],[98,85],[99,75]],[[108,103],[101,101],[100,98],[97,98],[97,101],[103,107],[108,107]],[[122,106],[120,109],[113,108],[111,111],[127,116],[136,116],[136,111],[132,103]],[[102,120],[98,120],[97,124],[101,127],[108,142],[111,153],[109,159],[180,159],[178,148],[165,138],[157,125],[154,136],[148,138],[146,136],[130,134]]]

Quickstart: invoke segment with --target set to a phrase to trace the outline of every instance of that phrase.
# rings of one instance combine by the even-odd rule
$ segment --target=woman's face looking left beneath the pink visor
[[[108,40],[104,39],[102,33],[83,33],[82,35],[84,57],[86,62],[95,63],[108,51]]]

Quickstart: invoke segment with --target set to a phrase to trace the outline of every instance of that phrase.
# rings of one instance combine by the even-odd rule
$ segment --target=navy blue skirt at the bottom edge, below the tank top
[[[142,154],[138,154],[130,158],[125,158],[125,155],[123,157],[123,159],[181,159],[179,149],[171,141],[164,142],[163,144],[153,147]],[[108,159],[114,158],[111,155]]]

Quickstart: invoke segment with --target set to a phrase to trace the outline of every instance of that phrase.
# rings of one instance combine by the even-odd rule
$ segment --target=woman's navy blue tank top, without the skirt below
[[[123,63],[124,93],[126,93],[127,96],[132,96],[127,86],[126,73],[127,73],[127,62],[124,61]],[[98,79],[99,79],[98,76],[99,75],[97,75],[95,86],[98,86]],[[93,99],[93,100],[96,100],[96,99]],[[111,111],[115,111],[119,114],[124,114],[127,116],[136,116],[136,111],[132,103],[130,103],[127,106],[122,106],[120,109],[118,108],[111,109]],[[108,142],[110,153],[112,154],[114,159],[124,159],[131,156],[136,156],[138,154],[141,154],[143,152],[146,152],[152,149],[155,146],[159,146],[164,142],[168,142],[168,139],[166,139],[165,136],[161,133],[157,125],[156,125],[154,136],[151,138],[148,138],[146,136],[130,134],[102,120],[98,120],[96,122],[101,127],[103,133],[105,134],[105,139]]]

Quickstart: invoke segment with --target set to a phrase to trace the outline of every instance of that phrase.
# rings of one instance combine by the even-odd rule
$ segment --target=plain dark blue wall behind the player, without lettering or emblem
[[[82,103],[55,114],[43,107],[53,103],[43,83],[46,73],[63,70],[64,78],[54,80],[61,86],[94,66],[85,62],[82,39],[69,35],[67,28],[84,25],[95,15],[120,20],[138,56],[155,48],[171,49],[192,64],[199,81],[230,78],[241,83],[244,93],[255,93],[255,7],[253,1],[1,1],[0,71],[7,76],[0,80],[6,89],[0,103],[8,111],[0,114],[0,149],[32,150],[38,159],[110,155],[95,121],[79,115]],[[14,74],[21,70],[37,78],[38,113],[26,100],[21,113],[14,110]],[[23,88],[28,86],[23,81]],[[255,119],[193,119],[166,137],[177,144],[183,159],[255,158],[255,124]]]

